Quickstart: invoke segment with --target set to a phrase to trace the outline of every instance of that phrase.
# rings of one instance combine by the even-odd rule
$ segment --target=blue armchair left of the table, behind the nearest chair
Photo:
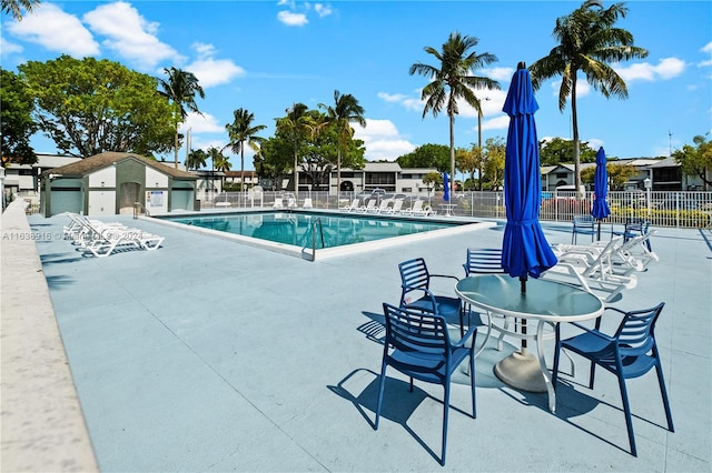
[[[453,279],[455,285],[458,279],[448,274],[431,274],[423,258],[404,261],[398,264],[400,271],[400,306],[431,312],[451,321],[454,315],[459,316],[461,334],[465,333],[463,325],[464,312],[459,298],[435,294],[431,291],[434,278]]]

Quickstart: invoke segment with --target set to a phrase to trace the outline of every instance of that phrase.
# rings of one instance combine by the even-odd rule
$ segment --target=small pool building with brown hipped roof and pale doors
[[[40,212],[85,215],[196,209],[196,177],[139,154],[105,152],[42,172]]]

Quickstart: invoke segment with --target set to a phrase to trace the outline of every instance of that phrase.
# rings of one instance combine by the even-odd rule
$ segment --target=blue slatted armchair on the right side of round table
[[[624,312],[615,308],[606,310],[623,314],[623,321],[613,336],[600,332],[601,318],[596,319],[595,329],[589,329],[578,323],[572,322],[584,333],[561,340],[560,324],[556,325],[556,351],[554,354],[553,384],[556,386],[558,376],[558,358],[562,349],[577,353],[591,361],[591,376],[589,389],[593,389],[593,375],[595,366],[599,365],[619,379],[621,397],[623,399],[623,411],[625,412],[625,423],[627,424],[627,436],[631,442],[631,453],[637,456],[635,449],[635,436],[633,434],[633,422],[631,419],[631,407],[627,400],[625,380],[640,378],[653,368],[657,373],[657,383],[668,417],[668,429],[674,432],[672,425],[672,414],[668,401],[668,391],[663,379],[663,370],[660,363],[660,353],[655,343],[655,322],[660,316],[665,303],[661,303],[652,309]]]

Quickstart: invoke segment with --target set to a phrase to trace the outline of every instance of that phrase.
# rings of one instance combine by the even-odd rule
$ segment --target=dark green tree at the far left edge
[[[33,164],[37,155],[30,145],[30,137],[37,131],[37,123],[32,120],[32,99],[24,83],[11,71],[0,68],[0,82],[2,167]]]

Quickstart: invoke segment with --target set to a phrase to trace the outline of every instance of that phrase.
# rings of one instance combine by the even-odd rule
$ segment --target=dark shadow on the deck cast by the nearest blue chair
[[[368,383],[366,388],[364,388],[359,393],[355,394],[348,391],[344,385],[352,380],[352,378],[367,373],[374,376],[373,381]],[[349,401],[354,404],[354,407],[358,411],[358,413],[368,422],[372,429],[376,429],[375,424],[375,412],[378,404],[378,384],[380,380],[380,374],[375,373],[368,369],[356,369],[347,374],[344,379],[342,379],[336,385],[327,385],[327,389],[332,391],[334,394]],[[437,462],[441,462],[441,457],[435,453],[435,451],[417,434],[409,425],[408,419],[413,413],[417,410],[417,407],[426,400],[433,400],[441,405],[443,401],[433,397],[427,392],[419,389],[417,385],[413,386],[413,392],[411,392],[411,386],[407,381],[397,380],[394,378],[389,378],[386,375],[386,383],[384,388],[384,397],[383,397],[383,406],[380,409],[380,417],[387,419],[394,423],[400,424],[403,429],[413,437],[415,441]],[[456,411],[463,415],[472,417],[472,413],[465,412],[462,409],[452,405],[449,406],[452,411]],[[370,411],[370,414],[367,413]],[[372,420],[372,416],[374,420]],[[438,445],[439,447],[439,445]]]

